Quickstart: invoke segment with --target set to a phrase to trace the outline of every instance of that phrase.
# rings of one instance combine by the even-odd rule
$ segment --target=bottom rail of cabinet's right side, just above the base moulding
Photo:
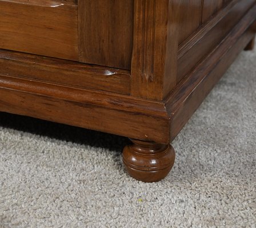
[[[193,46],[181,47],[183,50],[179,48],[177,82],[185,78],[201,60],[214,50],[255,2],[255,0],[230,2],[231,7],[226,6],[228,10],[225,7],[222,8],[215,17],[205,22],[201,29],[194,34]],[[216,18],[218,19],[216,20]],[[190,41],[188,40],[187,43]]]

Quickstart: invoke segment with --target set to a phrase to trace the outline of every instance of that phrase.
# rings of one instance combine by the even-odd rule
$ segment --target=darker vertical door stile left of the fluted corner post
[[[130,70],[134,0],[78,0],[79,60]]]

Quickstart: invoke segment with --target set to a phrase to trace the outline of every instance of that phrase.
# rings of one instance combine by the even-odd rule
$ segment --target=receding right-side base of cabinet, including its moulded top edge
[[[239,52],[254,37],[255,15],[256,5],[166,100],[166,109],[171,117],[170,141],[178,135]]]

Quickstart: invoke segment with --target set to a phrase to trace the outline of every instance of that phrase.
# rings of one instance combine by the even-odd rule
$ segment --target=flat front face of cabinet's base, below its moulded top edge
[[[31,116],[56,123],[93,129],[138,139],[168,141],[168,124],[165,119],[144,114],[122,112],[98,105],[76,103],[58,99],[54,96],[41,96],[3,88],[0,83],[0,95],[8,99],[0,100],[0,111],[23,116]],[[36,101],[36,102],[35,102]],[[133,121],[131,121],[133,120]],[[140,131],[143,129],[143,131]],[[155,132],[163,132],[156,135]]]

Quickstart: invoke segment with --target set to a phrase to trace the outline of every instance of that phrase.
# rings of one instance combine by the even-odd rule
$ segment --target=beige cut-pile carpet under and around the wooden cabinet
[[[243,52],[145,184],[123,137],[0,113],[0,227],[255,227],[256,52]]]

